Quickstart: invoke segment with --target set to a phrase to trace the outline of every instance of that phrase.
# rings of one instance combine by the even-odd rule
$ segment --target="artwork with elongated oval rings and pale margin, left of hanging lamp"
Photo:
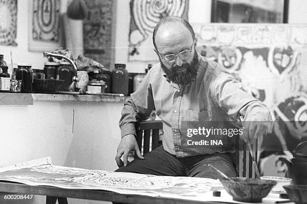
[[[52,51],[61,47],[60,0],[31,0],[29,50]]]

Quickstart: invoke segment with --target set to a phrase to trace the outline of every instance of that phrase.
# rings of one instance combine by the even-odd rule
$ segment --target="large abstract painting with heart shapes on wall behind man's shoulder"
[[[192,26],[198,38],[198,51],[222,64],[248,93],[269,107],[277,121],[272,135],[263,139],[262,156],[291,158],[293,148],[307,140],[307,26],[230,23]],[[284,167],[277,170],[281,176]]]

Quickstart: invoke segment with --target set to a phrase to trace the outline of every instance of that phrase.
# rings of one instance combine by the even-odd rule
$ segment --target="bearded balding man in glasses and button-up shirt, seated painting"
[[[205,124],[243,117],[245,134],[240,136],[253,141],[271,131],[271,126],[262,122],[271,120],[268,108],[220,64],[196,51],[197,38],[186,20],[163,18],[154,29],[153,42],[160,63],[148,71],[139,89],[124,103],[119,121],[122,138],[115,157],[120,168],[116,171],[216,179],[219,176],[207,166],[210,163],[228,176],[236,176],[235,149],[191,145],[184,129],[192,121]],[[154,108],[163,122],[163,145],[142,156],[134,125],[148,118]],[[255,120],[260,122],[249,122]],[[138,159],[128,163],[131,150]]]

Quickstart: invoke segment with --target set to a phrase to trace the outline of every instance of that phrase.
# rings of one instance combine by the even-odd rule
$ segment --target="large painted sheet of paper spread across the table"
[[[122,194],[241,203],[232,200],[218,179],[72,168],[52,165],[49,157],[0,168],[0,180],[70,189],[108,190]],[[213,190],[221,190],[221,197],[214,197]],[[274,203],[280,200],[278,195],[270,194],[263,202]]]

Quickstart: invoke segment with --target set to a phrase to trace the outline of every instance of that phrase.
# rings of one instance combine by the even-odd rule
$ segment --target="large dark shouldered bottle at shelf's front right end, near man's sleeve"
[[[126,64],[115,64],[112,70],[112,93],[122,93],[128,95],[128,71]]]

